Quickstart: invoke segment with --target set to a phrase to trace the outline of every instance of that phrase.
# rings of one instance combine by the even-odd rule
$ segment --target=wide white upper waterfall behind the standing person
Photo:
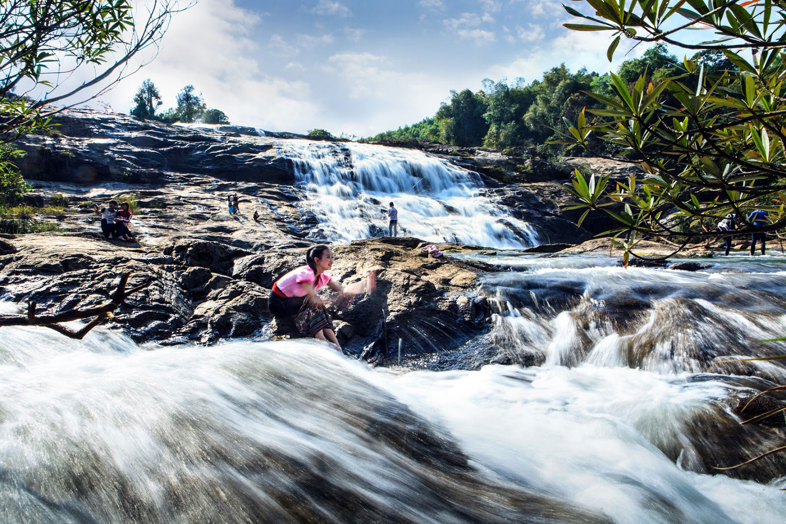
[[[529,223],[485,196],[479,175],[421,151],[306,140],[277,147],[295,164],[297,183],[307,194],[301,205],[317,217],[315,239],[387,235],[386,210],[393,201],[399,234],[495,248],[540,243]]]

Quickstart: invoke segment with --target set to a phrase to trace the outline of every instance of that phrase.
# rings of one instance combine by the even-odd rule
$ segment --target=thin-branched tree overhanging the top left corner
[[[182,9],[186,9],[184,6]],[[111,89],[152,60],[177,0],[9,0],[0,2],[0,145],[50,126],[50,117]],[[90,79],[68,83],[77,71]],[[19,91],[24,89],[24,91]],[[0,178],[13,178],[11,152],[0,149]]]

